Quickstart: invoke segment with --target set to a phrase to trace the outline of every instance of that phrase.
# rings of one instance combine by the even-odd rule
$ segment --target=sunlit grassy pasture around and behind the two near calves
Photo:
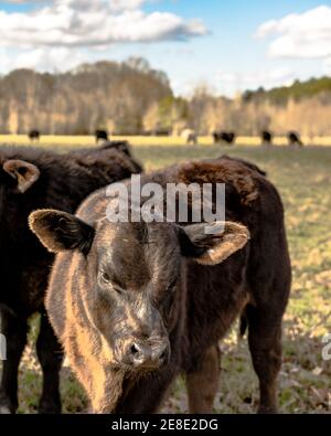
[[[9,138],[10,139],[10,138]],[[0,141],[10,142],[8,138]],[[23,142],[23,140],[15,140]],[[92,138],[45,139],[40,145],[58,151],[87,145]],[[284,365],[279,375],[279,403],[282,413],[331,412],[331,361],[322,359],[323,336],[331,333],[331,148],[307,147],[264,150],[256,140],[235,148],[209,145],[186,147],[149,138],[134,138],[135,156],[152,170],[188,159],[211,158],[222,153],[249,159],[268,172],[278,187],[286,210],[292,259],[292,293],[284,325]],[[158,146],[158,143],[161,143]],[[241,142],[242,143],[242,142]],[[319,141],[327,145],[327,141]],[[38,332],[32,321],[30,337]],[[246,339],[237,340],[237,326],[221,344],[224,352],[222,376],[215,402],[216,413],[253,413],[258,398]],[[29,347],[20,369],[20,413],[34,413],[41,391],[40,368],[34,349]],[[67,366],[62,373],[64,412],[84,413],[87,402]],[[184,383],[173,386],[164,412],[186,412]]]

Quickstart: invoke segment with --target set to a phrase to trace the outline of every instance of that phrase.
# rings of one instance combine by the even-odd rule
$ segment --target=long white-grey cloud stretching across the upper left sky
[[[143,0],[54,0],[31,12],[0,11],[2,45],[103,46],[116,42],[185,40],[204,35],[199,20],[168,12],[145,13]]]

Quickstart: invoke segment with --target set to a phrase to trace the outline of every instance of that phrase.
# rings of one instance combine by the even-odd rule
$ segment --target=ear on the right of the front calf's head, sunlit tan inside
[[[216,265],[247,244],[249,231],[243,224],[216,221],[180,227],[179,237],[183,256]]]

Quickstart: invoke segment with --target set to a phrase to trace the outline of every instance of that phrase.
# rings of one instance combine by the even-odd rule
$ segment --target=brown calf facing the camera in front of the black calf
[[[226,183],[226,221],[214,223],[212,233],[191,219],[111,223],[106,210],[117,199],[109,201],[105,190],[76,215],[43,210],[29,220],[58,253],[46,308],[93,410],[153,413],[184,373],[190,411],[210,413],[221,369],[217,343],[242,315],[259,411],[275,412],[291,275],[277,190],[257,167],[227,157],[143,176],[141,185],[148,182],[163,190],[169,182]]]

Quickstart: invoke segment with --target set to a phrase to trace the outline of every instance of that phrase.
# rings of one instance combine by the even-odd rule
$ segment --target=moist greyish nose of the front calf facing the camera
[[[168,341],[154,342],[152,344],[134,342],[130,347],[130,359],[135,366],[158,368],[169,358]]]

